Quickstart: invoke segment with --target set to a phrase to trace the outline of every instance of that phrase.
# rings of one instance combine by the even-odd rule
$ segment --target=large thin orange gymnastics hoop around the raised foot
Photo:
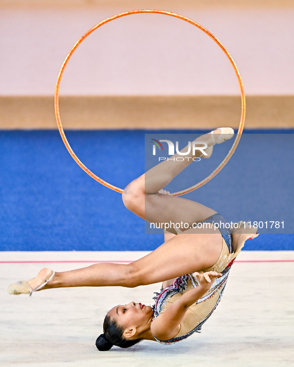
[[[75,44],[75,46],[72,48],[71,52],[68,54],[67,58],[65,59],[62,68],[59,72],[59,76],[57,79],[57,83],[56,83],[56,89],[55,89],[55,115],[56,115],[56,120],[57,120],[57,125],[58,125],[58,129],[60,132],[60,135],[62,137],[62,140],[67,148],[67,150],[70,152],[71,156],[73,157],[73,159],[78,163],[78,165],[85,171],[87,172],[88,175],[90,175],[94,180],[98,181],[99,183],[101,183],[102,185],[111,188],[111,190],[117,191],[122,193],[123,189],[113,186],[111,183],[108,183],[102,179],[100,179],[98,176],[96,176],[93,172],[91,172],[80,160],[79,158],[76,156],[75,152],[73,151],[73,149],[71,148],[71,146],[69,145],[69,142],[67,141],[67,138],[65,136],[62,124],[61,124],[61,119],[60,119],[60,114],[59,114],[59,88],[60,88],[60,82],[61,82],[61,77],[63,75],[64,69],[67,65],[67,63],[69,62],[70,58],[72,57],[74,51],[77,49],[77,47],[84,41],[85,38],[87,38],[89,36],[89,34],[91,34],[92,32],[94,32],[97,28],[101,27],[101,25],[110,22],[111,20],[117,19],[117,18],[121,18],[122,16],[126,16],[126,15],[131,15],[131,14],[138,14],[138,13],[156,13],[156,14],[164,14],[164,15],[170,15],[170,16],[174,16],[176,18],[185,20],[186,22],[195,25],[197,28],[201,29],[204,33],[206,33],[210,38],[213,39],[213,41],[215,41],[218,46],[222,49],[222,51],[226,54],[227,58],[229,59],[230,63],[232,64],[235,73],[237,75],[238,78],[238,82],[239,82],[239,86],[240,86],[240,90],[241,90],[241,101],[242,101],[242,106],[241,106],[241,119],[240,119],[240,124],[239,124],[239,129],[237,132],[237,137],[231,147],[231,149],[229,150],[229,153],[227,154],[227,156],[224,158],[224,160],[220,163],[220,165],[209,175],[206,177],[206,179],[200,181],[199,183],[197,183],[194,186],[191,186],[189,188],[186,188],[185,190],[182,191],[178,191],[178,192],[174,192],[172,193],[172,195],[174,196],[180,196],[180,195],[184,195],[185,193],[191,192],[193,190],[196,190],[196,188],[203,186],[205,183],[207,183],[208,181],[210,181],[216,174],[219,173],[219,171],[228,163],[229,159],[232,157],[235,149],[237,148],[237,145],[240,141],[241,135],[242,135],[242,131],[244,128],[244,121],[245,121],[245,109],[246,109],[246,102],[245,102],[245,92],[244,92],[244,88],[243,88],[243,83],[239,74],[239,71],[237,69],[237,66],[234,62],[234,60],[232,59],[231,55],[228,53],[228,51],[226,50],[226,48],[219,42],[219,40],[214,37],[214,35],[212,33],[210,33],[207,29],[205,29],[204,27],[202,27],[200,24],[196,23],[195,21],[186,18],[183,15],[179,15],[176,13],[171,13],[169,11],[164,11],[164,10],[154,10],[154,9],[140,9],[140,10],[131,10],[131,11],[126,11],[124,13],[120,13],[120,14],[116,14],[114,16],[111,16],[110,18],[107,18],[105,20],[103,20],[102,22],[98,23],[97,25],[95,25],[93,28],[91,28],[88,32],[86,32],[84,34],[84,36],[82,38],[80,38],[80,40]]]

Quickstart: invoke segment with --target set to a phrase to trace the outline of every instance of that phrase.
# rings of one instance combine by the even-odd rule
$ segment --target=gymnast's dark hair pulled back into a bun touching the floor
[[[111,320],[110,316],[105,316],[103,322],[103,334],[96,340],[96,347],[99,351],[108,351],[113,345],[120,348],[129,348],[137,344],[140,339],[128,340],[123,337],[124,327],[117,325],[116,321]]]

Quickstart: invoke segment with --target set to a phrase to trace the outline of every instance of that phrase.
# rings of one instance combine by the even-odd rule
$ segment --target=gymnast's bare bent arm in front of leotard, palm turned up
[[[159,340],[174,338],[180,331],[180,322],[183,320],[189,307],[207,292],[218,276],[221,276],[221,274],[216,272],[198,275],[199,285],[184,293],[166,311],[157,316],[151,324],[151,333]]]

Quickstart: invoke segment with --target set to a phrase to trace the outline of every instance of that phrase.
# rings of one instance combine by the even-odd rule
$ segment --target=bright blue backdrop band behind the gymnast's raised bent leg
[[[156,139],[175,131],[66,134],[90,170],[124,188],[144,173],[145,133]],[[217,146],[199,171],[191,165],[184,181],[191,179],[192,185],[211,173],[229,148],[228,142]],[[255,131],[242,136],[213,180],[186,197],[212,207],[227,221],[284,221],[284,230],[260,230],[245,250],[294,250],[293,159],[294,130]],[[58,131],[0,131],[0,168],[2,251],[153,250],[163,241],[162,235],[144,233],[144,221],[124,207],[121,194],[94,181],[74,162]],[[171,189],[185,188],[180,186],[175,180]]]

